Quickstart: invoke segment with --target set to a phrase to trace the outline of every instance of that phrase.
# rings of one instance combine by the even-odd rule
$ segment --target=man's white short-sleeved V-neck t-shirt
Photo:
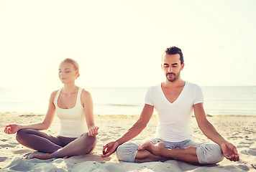
[[[155,138],[168,142],[193,140],[191,129],[193,105],[200,102],[204,102],[201,88],[190,82],[186,82],[175,102],[168,101],[161,84],[150,87],[145,96],[145,104],[152,105],[157,110]]]

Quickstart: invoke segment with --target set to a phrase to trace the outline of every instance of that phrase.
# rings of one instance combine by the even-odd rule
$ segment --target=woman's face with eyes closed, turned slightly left
[[[69,62],[62,62],[59,67],[59,77],[63,84],[75,82],[78,77],[78,70],[75,69],[73,64]]]

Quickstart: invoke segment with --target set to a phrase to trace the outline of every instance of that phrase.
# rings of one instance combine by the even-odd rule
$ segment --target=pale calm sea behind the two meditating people
[[[88,87],[95,115],[140,115],[148,87]],[[256,86],[201,87],[207,115],[256,115]],[[46,113],[51,92],[0,87],[0,113]]]

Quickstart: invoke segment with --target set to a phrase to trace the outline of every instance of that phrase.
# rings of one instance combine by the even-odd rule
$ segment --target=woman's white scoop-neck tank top
[[[56,115],[60,118],[59,135],[68,138],[78,138],[81,134],[88,132],[86,125],[86,116],[81,105],[81,92],[83,88],[79,87],[76,97],[76,105],[70,109],[62,109],[58,107],[58,98],[62,88],[55,95],[54,105]]]

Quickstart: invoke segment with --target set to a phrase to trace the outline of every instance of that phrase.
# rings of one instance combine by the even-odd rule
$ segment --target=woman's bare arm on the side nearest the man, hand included
[[[86,123],[88,127],[88,135],[98,135],[99,128],[95,126],[93,119],[93,100],[90,92],[83,90],[81,94],[81,103],[83,105],[83,111],[86,115]]]

